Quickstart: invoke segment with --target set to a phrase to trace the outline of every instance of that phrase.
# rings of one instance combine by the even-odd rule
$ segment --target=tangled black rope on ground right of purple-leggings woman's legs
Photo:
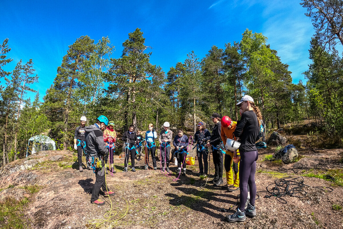
[[[299,176],[297,178],[284,177],[279,180],[275,180],[273,184],[270,184],[266,187],[267,191],[260,191],[257,193],[266,192],[267,195],[265,195],[264,198],[271,198],[272,196],[275,196],[277,202],[280,204],[287,204],[287,201],[284,199],[284,197],[305,197],[307,192],[304,190],[304,187],[318,188],[319,190],[325,192],[333,191],[333,189],[330,187],[310,186],[304,184],[304,178]]]

